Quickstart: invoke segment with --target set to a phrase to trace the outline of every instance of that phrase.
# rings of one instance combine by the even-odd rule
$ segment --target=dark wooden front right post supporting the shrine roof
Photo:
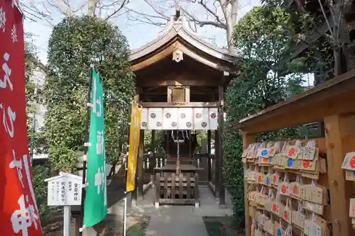
[[[224,178],[223,178],[223,147],[222,147],[222,133],[224,125],[224,111],[223,111],[223,96],[224,88],[223,86],[218,87],[219,96],[219,107],[218,107],[218,158],[219,158],[219,205],[226,204],[226,191],[224,189]],[[217,167],[216,167],[217,169]],[[217,191],[217,189],[216,189]]]

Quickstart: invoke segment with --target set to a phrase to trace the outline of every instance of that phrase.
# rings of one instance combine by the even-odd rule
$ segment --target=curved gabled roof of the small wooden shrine
[[[173,60],[175,50],[180,50],[183,57],[187,55],[212,69],[235,72],[234,62],[237,57],[228,50],[210,45],[198,38],[190,28],[185,16],[181,16],[178,20],[172,17],[158,38],[132,50],[130,55],[131,70],[136,72],[167,57]]]

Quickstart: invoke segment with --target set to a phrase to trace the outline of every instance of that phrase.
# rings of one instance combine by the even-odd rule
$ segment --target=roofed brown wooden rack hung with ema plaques
[[[306,196],[281,196],[280,201],[283,205],[278,206],[279,208],[273,208],[273,202],[270,202],[268,198],[260,195],[261,186],[265,186],[263,183],[257,183],[258,179],[251,181],[249,174],[244,175],[244,194],[245,194],[245,211],[246,211],[246,236],[251,235],[261,235],[266,232],[268,235],[287,235],[287,228],[278,227],[281,225],[291,225],[293,236],[304,235],[307,236],[352,236],[355,235],[355,230],[352,223],[354,221],[349,215],[350,199],[355,196],[355,181],[350,181],[349,176],[346,177],[346,170],[342,169],[342,163],[344,157],[349,152],[355,152],[355,70],[347,72],[340,75],[334,79],[331,79],[319,86],[310,89],[308,91],[302,92],[297,96],[293,96],[288,99],[288,101],[283,101],[271,106],[264,111],[261,111],[253,116],[249,116],[241,120],[236,125],[236,132],[241,132],[243,136],[244,150],[246,150],[249,145],[256,142],[256,135],[259,133],[266,133],[272,130],[278,130],[280,128],[295,127],[297,125],[313,123],[313,122],[324,122],[324,137],[316,139],[316,147],[319,151],[319,160],[322,164],[322,168],[318,169],[317,172],[309,172],[308,176],[302,176],[307,173],[307,170],[302,168],[270,168],[272,172],[269,174],[280,174],[280,179],[283,181],[283,176],[288,175],[289,182],[294,182],[297,176],[302,176],[304,185],[312,185],[312,178],[315,176],[317,179],[317,188],[320,191],[318,195],[322,196],[322,209],[319,209],[315,215],[316,219],[300,218],[297,204],[297,200],[302,202],[300,206],[301,211],[313,212],[315,208],[311,208],[310,205],[304,205],[305,202],[319,201],[313,200],[306,201]],[[309,140],[302,140],[302,142],[307,143]],[[290,143],[293,145],[293,143]],[[322,163],[321,163],[322,162]],[[280,164],[280,162],[279,162]],[[283,163],[283,164],[288,164]],[[252,167],[262,173],[261,165],[253,161],[245,161],[246,169],[251,169]],[[300,166],[299,166],[300,167]],[[266,167],[263,167],[263,174],[268,174]],[[261,179],[263,180],[263,175]],[[314,182],[314,181],[313,181]],[[274,189],[278,191],[280,188],[278,185],[265,187]],[[284,186],[286,189],[288,186]],[[308,188],[308,187],[307,187]],[[257,200],[249,198],[252,191],[258,191],[256,194]],[[309,189],[307,193],[309,193]],[[302,194],[302,191],[300,192]],[[297,195],[297,194],[296,194]],[[314,194],[313,194],[314,195]],[[251,195],[252,197],[252,195]],[[287,200],[287,199],[291,199]],[[263,205],[263,206],[262,206]],[[296,206],[295,206],[296,205]],[[287,218],[285,220],[285,215],[277,215],[273,213],[273,210],[279,210],[285,213],[285,207],[288,206],[287,213],[292,211],[296,212],[295,217],[297,219]],[[317,209],[316,209],[317,210]],[[271,211],[271,213],[270,213]],[[265,215],[273,215],[273,219],[265,218]],[[313,215],[313,214],[311,214]],[[297,225],[297,222],[303,220],[302,225]],[[263,225],[258,226],[258,222],[262,221]],[[315,227],[315,221],[320,227]],[[302,222],[302,221],[301,221]],[[300,226],[300,227],[299,227]],[[276,229],[276,230],[275,230]],[[313,230],[313,231],[312,231]]]

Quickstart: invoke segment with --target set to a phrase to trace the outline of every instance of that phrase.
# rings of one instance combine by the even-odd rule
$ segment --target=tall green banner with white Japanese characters
[[[87,150],[87,187],[84,203],[85,227],[96,225],[107,215],[104,127],[102,79],[92,69],[90,145]]]

